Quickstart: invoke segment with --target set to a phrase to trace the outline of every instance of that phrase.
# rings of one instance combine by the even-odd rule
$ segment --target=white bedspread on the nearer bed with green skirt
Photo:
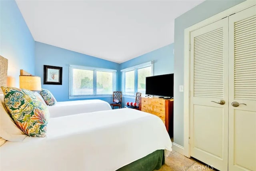
[[[52,118],[45,138],[7,141],[1,171],[114,171],[157,149],[172,151],[162,120],[134,109]]]

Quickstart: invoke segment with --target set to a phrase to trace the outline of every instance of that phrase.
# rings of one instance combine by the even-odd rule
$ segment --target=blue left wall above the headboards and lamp
[[[0,0],[0,55],[8,59],[8,76],[16,87],[20,69],[34,74],[35,41],[14,0]]]

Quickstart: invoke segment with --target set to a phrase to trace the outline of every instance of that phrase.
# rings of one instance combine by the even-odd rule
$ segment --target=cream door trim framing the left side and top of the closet
[[[190,32],[256,5],[246,0],[184,30],[184,154],[190,157]]]

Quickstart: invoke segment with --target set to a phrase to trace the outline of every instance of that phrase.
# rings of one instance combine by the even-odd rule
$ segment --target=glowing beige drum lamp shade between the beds
[[[20,76],[20,88],[32,91],[42,90],[41,78],[38,76]]]

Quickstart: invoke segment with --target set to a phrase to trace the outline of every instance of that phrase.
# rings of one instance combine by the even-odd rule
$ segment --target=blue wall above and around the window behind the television
[[[142,56],[138,56],[132,60],[128,60],[120,64],[120,70],[124,68],[129,68],[138,64],[143,64],[145,62],[154,61],[154,76],[162,74],[171,74],[174,73],[174,54],[173,54],[174,44],[169,44]],[[120,90],[122,87],[122,79],[120,80]],[[122,105],[124,106],[126,102],[133,102],[134,98],[124,97],[122,99]]]

